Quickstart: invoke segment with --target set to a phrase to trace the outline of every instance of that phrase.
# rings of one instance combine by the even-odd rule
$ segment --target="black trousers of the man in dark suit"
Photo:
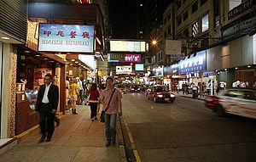
[[[52,109],[49,104],[44,104],[39,111],[39,125],[41,133],[44,137],[51,138],[55,131],[55,113],[51,112]]]

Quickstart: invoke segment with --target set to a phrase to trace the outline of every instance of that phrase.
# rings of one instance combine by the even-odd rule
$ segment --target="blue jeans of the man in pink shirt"
[[[115,140],[115,123],[116,123],[117,114],[108,115],[105,114],[105,126],[106,126],[106,137],[107,141],[114,141]]]

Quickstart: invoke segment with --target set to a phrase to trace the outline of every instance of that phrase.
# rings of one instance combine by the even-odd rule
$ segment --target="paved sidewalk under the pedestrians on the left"
[[[0,154],[0,161],[126,161],[119,120],[116,145],[106,148],[104,124],[90,121],[89,106],[78,106],[77,111],[79,115],[61,116],[61,125],[55,127],[51,142],[37,143],[41,137],[37,126],[35,133]]]

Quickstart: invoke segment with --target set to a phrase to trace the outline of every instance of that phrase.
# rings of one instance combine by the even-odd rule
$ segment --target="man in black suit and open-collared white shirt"
[[[38,142],[51,141],[55,131],[55,111],[59,103],[59,88],[52,84],[52,75],[44,76],[44,85],[39,88],[36,111],[39,112],[39,125],[42,137]]]

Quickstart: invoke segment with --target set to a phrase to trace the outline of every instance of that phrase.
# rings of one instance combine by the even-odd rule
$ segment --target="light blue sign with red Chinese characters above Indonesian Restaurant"
[[[40,24],[38,51],[93,53],[94,25]]]

